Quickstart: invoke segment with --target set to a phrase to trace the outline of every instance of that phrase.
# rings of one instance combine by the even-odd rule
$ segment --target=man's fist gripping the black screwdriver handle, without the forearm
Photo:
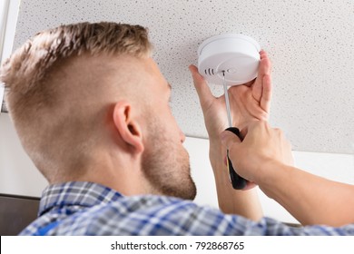
[[[265,121],[253,121],[242,132],[242,142],[228,131],[221,132],[221,142],[243,178],[258,184],[270,173],[264,170],[268,164],[292,166],[291,144],[279,129],[270,128]]]

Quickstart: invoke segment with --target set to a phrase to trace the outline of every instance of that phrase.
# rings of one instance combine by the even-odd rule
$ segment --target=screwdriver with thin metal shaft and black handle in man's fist
[[[225,71],[222,71],[222,76],[223,76],[223,82],[222,82],[223,91],[225,93],[226,112],[227,112],[228,122],[229,122],[229,128],[227,128],[226,131],[234,133],[242,141],[240,130],[236,127],[232,127],[231,109],[230,109],[228,88],[226,86],[226,81],[225,81]],[[229,180],[231,181],[232,188],[235,190],[242,190],[243,188],[246,187],[247,180],[245,180],[240,175],[238,175],[236,171],[233,169],[232,162],[229,157],[229,150],[226,151],[226,154],[227,154],[226,165],[229,171]]]

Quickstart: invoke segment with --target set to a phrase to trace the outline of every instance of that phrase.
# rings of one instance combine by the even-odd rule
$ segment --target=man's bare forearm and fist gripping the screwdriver
[[[221,132],[224,150],[229,149],[232,164],[243,178],[257,183],[303,226],[341,227],[353,223],[354,185],[330,181],[292,166],[290,142],[268,122],[251,122],[245,131],[242,142],[231,132]],[[227,200],[222,201],[230,209]]]

